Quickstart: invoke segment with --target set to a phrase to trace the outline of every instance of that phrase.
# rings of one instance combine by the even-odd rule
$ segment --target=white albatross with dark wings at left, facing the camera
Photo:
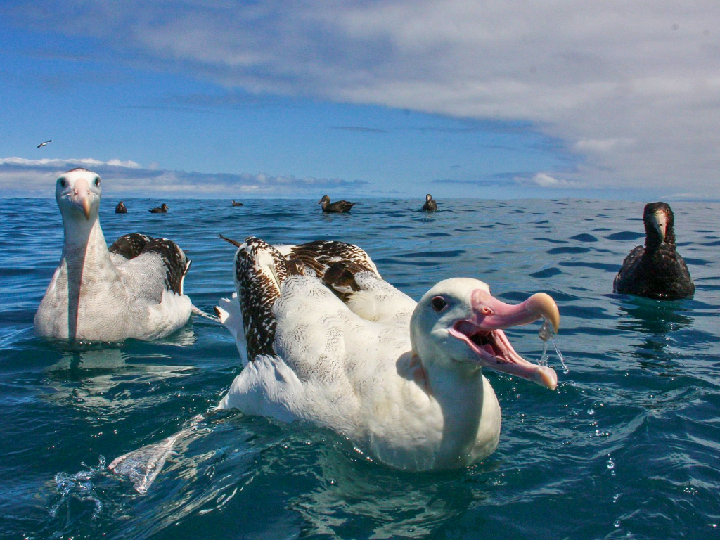
[[[183,294],[190,261],[176,243],[138,233],[108,248],[101,196],[100,177],[87,169],[58,178],[63,254],[35,314],[35,332],[80,341],[168,336],[190,318],[192,302]]]

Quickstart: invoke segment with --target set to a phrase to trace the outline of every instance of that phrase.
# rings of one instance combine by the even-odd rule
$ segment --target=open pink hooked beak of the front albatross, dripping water
[[[557,374],[548,366],[532,364],[516,353],[503,328],[533,323],[541,317],[550,321],[557,333],[560,313],[549,294],[538,292],[517,305],[500,302],[489,292],[476,289],[470,298],[473,315],[459,320],[449,330],[451,336],[465,341],[477,354],[482,366],[516,375],[548,387],[557,388]]]

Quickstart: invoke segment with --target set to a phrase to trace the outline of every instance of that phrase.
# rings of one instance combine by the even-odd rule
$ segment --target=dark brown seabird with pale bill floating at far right
[[[615,276],[613,291],[675,300],[695,292],[688,265],[675,249],[675,215],[665,202],[649,202],[642,215],[645,246],[634,248]]]

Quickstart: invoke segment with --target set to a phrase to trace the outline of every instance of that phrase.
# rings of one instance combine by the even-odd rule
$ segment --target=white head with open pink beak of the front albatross
[[[557,374],[531,364],[516,353],[503,328],[547,318],[557,332],[560,315],[549,295],[533,294],[518,305],[500,302],[477,279],[445,279],[418,302],[410,320],[413,351],[426,368],[479,372],[489,367],[557,387]]]

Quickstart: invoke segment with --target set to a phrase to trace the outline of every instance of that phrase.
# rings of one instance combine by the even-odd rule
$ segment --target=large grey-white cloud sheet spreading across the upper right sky
[[[582,186],[712,189],[720,4],[670,0],[15,4],[117,58],[227,87],[531,122]],[[539,182],[535,182],[539,184]]]

